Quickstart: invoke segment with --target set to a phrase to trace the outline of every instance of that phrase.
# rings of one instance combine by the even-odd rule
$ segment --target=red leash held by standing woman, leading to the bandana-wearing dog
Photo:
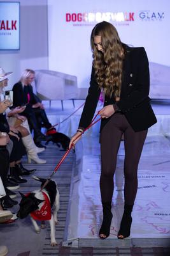
[[[81,134],[79,134],[78,136],[76,136],[76,138],[73,140],[73,143],[71,144],[71,147],[67,149],[66,153],[64,154],[64,156],[62,157],[62,159],[60,159],[59,163],[57,164],[57,166],[55,167],[55,169],[53,170],[52,174],[46,179],[45,184],[43,184],[43,186],[41,187],[41,190],[43,188],[45,188],[45,186],[48,184],[48,182],[50,181],[50,179],[52,179],[52,176],[55,174],[55,172],[57,172],[57,170],[59,169],[60,165],[62,164],[62,162],[64,161],[64,159],[66,158],[67,154],[69,154],[70,150],[74,147],[74,141],[76,141],[85,131],[87,131],[90,127],[92,127],[92,125],[96,124],[97,122],[99,122],[101,120],[101,117],[98,118],[95,122],[94,120],[97,118],[97,116],[99,115],[99,112],[97,113],[96,116],[94,116],[92,122],[89,124],[89,126],[87,126],[87,128],[81,132]]]

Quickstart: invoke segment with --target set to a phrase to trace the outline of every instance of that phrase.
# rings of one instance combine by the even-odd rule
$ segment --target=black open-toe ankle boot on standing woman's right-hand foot
[[[122,221],[120,223],[120,230],[118,231],[118,239],[124,239],[129,237],[131,234],[131,225],[132,225],[132,216],[131,212],[133,209],[133,205],[124,206],[124,214],[122,216]]]

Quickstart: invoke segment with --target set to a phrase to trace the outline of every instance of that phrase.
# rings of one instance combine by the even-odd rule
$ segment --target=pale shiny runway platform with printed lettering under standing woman
[[[67,108],[67,102],[65,104]],[[170,195],[170,102],[153,100],[152,106],[158,122],[148,131],[139,163],[138,195],[132,213],[131,237],[124,240],[117,239],[124,207],[124,141],[122,141],[115,173],[111,234],[106,240],[98,238],[102,207],[99,193],[101,166],[99,123],[97,123],[83,134],[82,140],[76,145],[69,211],[62,243],[64,246],[170,245],[170,206],[167,203]],[[99,109],[101,109],[100,104],[97,106],[97,110]],[[66,121],[67,124],[61,124],[60,129],[66,134],[73,135],[80,114],[81,109]],[[64,116],[60,115],[60,122],[63,118]]]

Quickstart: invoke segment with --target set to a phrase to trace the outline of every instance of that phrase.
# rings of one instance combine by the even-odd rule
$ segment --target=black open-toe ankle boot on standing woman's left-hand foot
[[[106,239],[110,236],[110,225],[111,220],[113,218],[113,214],[111,212],[111,202],[103,202],[103,223],[99,230],[99,237],[101,239]]]

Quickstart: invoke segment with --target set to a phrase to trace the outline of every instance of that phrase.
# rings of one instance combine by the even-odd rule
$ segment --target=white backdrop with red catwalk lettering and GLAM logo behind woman
[[[98,22],[83,21],[82,17],[88,19],[89,16],[78,16],[78,13],[97,12],[110,12],[108,21],[116,26],[122,42],[134,47],[144,46],[149,61],[170,67],[169,11],[168,0],[48,0],[49,68],[77,76],[78,87],[89,86],[90,33],[101,20],[97,14]],[[66,21],[66,13],[69,13],[67,20],[76,13],[72,15],[73,20],[79,18],[80,21]],[[119,13],[118,19],[126,20],[111,20],[115,13]],[[90,15],[93,19],[94,14]]]

